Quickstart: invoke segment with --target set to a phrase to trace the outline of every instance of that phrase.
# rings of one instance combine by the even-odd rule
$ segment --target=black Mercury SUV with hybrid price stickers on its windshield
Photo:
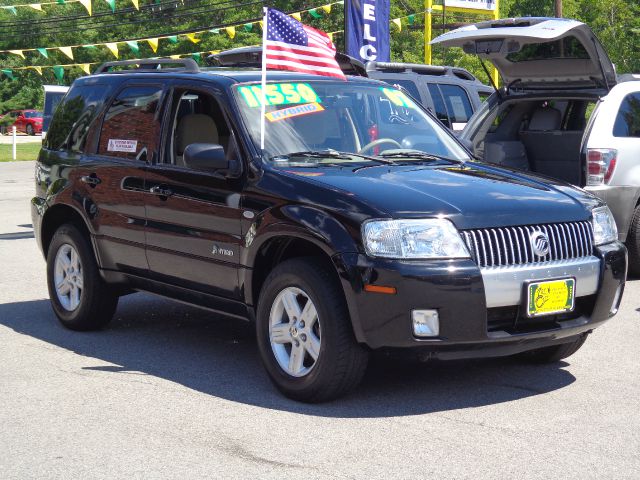
[[[275,385],[322,401],[374,349],[556,361],[616,313],[597,198],[473,162],[382,82],[177,62],[105,64],[54,114],[32,214],[65,326],[165,295],[255,322]]]

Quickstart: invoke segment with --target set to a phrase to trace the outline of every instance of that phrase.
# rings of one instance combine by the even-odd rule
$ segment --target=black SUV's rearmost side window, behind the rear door
[[[72,88],[53,115],[45,148],[84,152],[90,127],[110,90],[98,84]]]

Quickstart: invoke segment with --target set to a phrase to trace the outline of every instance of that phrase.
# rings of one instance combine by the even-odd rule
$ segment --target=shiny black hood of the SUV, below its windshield
[[[451,167],[375,166],[355,171],[288,169],[287,174],[322,184],[331,195],[351,199],[357,210],[366,205],[370,215],[442,215],[460,229],[588,220],[591,208],[601,203],[569,185],[471,162]]]

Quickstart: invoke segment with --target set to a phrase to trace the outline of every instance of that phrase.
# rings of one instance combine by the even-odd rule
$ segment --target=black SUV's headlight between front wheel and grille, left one
[[[372,257],[469,258],[449,220],[373,220],[362,226],[365,250]]]

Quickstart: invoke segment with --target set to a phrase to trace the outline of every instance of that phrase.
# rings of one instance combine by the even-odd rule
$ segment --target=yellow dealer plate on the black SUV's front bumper
[[[575,278],[527,284],[527,314],[530,317],[573,310]]]

